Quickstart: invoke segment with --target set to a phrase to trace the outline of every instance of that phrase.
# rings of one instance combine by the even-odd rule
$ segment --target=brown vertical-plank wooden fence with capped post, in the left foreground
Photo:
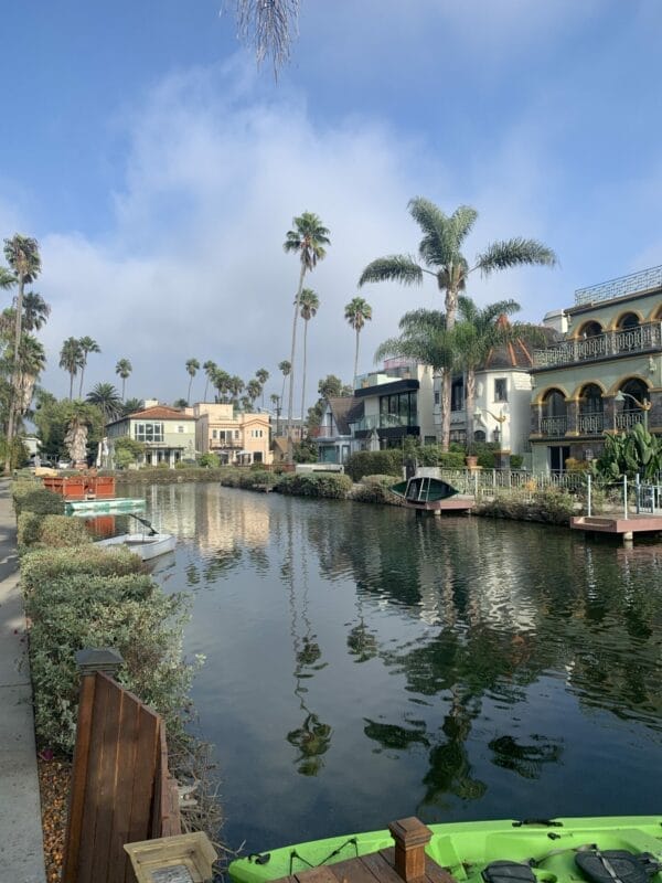
[[[62,883],[132,881],[125,843],[181,833],[164,724],[109,677],[118,666],[113,653],[78,655],[83,678]]]

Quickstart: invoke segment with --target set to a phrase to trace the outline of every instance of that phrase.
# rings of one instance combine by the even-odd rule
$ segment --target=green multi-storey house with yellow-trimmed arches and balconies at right
[[[535,471],[599,455],[605,433],[637,423],[662,434],[662,266],[580,288],[563,339],[534,353]]]

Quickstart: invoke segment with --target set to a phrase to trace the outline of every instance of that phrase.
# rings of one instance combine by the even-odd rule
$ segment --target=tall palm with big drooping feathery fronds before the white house
[[[448,216],[423,196],[410,200],[408,209],[423,233],[418,245],[420,262],[404,254],[380,257],[365,267],[359,285],[378,281],[421,285],[424,274],[434,276],[439,290],[445,292],[448,330],[455,326],[458,297],[465,290],[470,273],[480,270],[483,276],[489,276],[494,270],[525,264],[556,264],[556,255],[546,245],[537,240],[515,237],[488,245],[470,265],[461,248],[478,217],[476,209],[460,205]],[[450,437],[450,384],[451,377],[445,372],[441,396],[441,439],[445,448],[448,448]]]

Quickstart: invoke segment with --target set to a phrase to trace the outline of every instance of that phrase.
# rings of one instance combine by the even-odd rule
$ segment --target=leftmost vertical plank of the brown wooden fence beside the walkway
[[[95,685],[95,674],[87,674],[81,680],[81,690],[78,692],[78,724],[76,727],[76,746],[74,748],[74,764],[70,790],[62,883],[76,883],[89,764]]]

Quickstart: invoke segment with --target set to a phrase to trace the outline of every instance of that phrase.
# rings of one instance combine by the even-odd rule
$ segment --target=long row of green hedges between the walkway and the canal
[[[29,623],[34,727],[42,790],[47,880],[60,880],[76,732],[75,655],[114,647],[124,663],[117,680],[164,720],[171,773],[191,791],[182,829],[204,831],[220,853],[223,823],[211,746],[192,734],[189,690],[202,657],[182,655],[191,598],[166,594],[140,558],[126,549],[100,549],[62,497],[33,480],[14,481],[20,585]]]

